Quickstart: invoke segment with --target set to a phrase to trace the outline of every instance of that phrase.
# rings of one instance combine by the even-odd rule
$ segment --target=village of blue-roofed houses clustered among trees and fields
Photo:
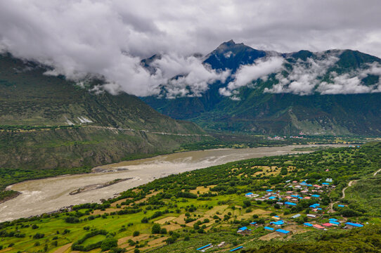
[[[351,229],[361,228],[363,224],[347,221],[343,217],[335,217],[335,211],[332,209],[332,204],[321,205],[322,196],[330,193],[330,190],[334,189],[332,185],[332,179],[326,179],[325,182],[320,184],[310,184],[307,181],[285,181],[285,190],[273,190],[266,189],[258,191],[256,193],[245,193],[245,197],[253,202],[271,202],[273,207],[283,211],[283,216],[273,215],[265,222],[252,221],[249,226],[243,226],[236,231],[239,235],[250,235],[254,229],[262,228],[264,231],[268,231],[267,235],[273,235],[276,237],[288,237],[295,233],[295,225],[306,228],[308,230],[323,230],[328,229]],[[290,214],[288,211],[292,207],[298,207],[299,202],[302,200],[309,200],[314,204],[309,205],[302,211],[305,216],[302,216],[302,212],[297,214]],[[338,208],[346,207],[346,205],[337,204]],[[326,214],[326,215],[324,215]],[[330,217],[332,216],[332,217]],[[303,222],[302,222],[303,221]],[[290,228],[289,228],[290,227]],[[224,247],[225,242],[221,242],[217,247]],[[200,252],[206,252],[207,249],[212,249],[214,245],[208,244],[199,247],[197,250]],[[243,246],[230,249],[229,252],[235,252],[243,249]]]

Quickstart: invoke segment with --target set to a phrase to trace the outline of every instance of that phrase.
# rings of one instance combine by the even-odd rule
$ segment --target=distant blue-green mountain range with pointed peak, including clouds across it
[[[150,63],[142,64],[153,71]],[[227,41],[202,59],[229,71],[201,96],[141,98],[174,119],[209,131],[288,135],[366,135],[381,132],[381,59],[352,50],[278,53]]]

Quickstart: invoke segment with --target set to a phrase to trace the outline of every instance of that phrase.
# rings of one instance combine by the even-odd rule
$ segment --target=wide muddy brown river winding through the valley
[[[52,212],[70,205],[99,202],[101,199],[108,199],[124,190],[140,186],[143,183],[148,183],[169,174],[178,174],[193,169],[201,169],[255,157],[308,153],[309,151],[301,152],[294,151],[294,149],[309,146],[312,145],[174,153],[142,160],[108,164],[94,169],[94,171],[105,170],[103,172],[24,181],[13,186],[8,186],[8,188],[17,190],[21,194],[12,200],[0,204],[0,222]],[[73,190],[84,186],[127,178],[132,179],[105,188],[69,195]]]

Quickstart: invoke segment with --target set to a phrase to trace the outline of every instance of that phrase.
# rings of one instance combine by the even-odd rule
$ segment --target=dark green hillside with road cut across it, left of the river
[[[90,92],[101,80],[84,89],[46,70],[0,56],[0,168],[2,175],[13,174],[13,183],[51,175],[44,169],[84,172],[210,139],[197,125],[161,115],[136,96]]]

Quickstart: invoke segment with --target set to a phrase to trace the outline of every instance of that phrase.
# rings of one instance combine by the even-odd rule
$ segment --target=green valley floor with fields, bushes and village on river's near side
[[[368,187],[360,185],[378,178],[374,173],[380,169],[380,152],[380,143],[370,143],[171,175],[101,204],[0,223],[0,247],[9,253],[190,253],[209,244],[214,247],[207,252],[237,247],[243,247],[238,250],[242,253],[380,252],[380,210],[371,200],[380,195],[380,188],[373,187],[373,195],[368,195]],[[359,187],[351,186],[346,193],[353,188],[364,202],[351,194],[342,198],[342,189],[354,180]],[[297,200],[288,199],[294,195]],[[330,219],[340,223],[333,226]],[[363,226],[349,229],[347,222]],[[323,224],[326,230],[304,223]],[[250,231],[238,233],[244,226]],[[280,235],[276,229],[290,232]]]

